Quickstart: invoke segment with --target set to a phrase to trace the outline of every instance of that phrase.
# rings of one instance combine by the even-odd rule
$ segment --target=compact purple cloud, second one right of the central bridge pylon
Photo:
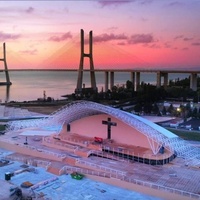
[[[129,44],[147,44],[151,42],[154,42],[154,38],[151,34],[134,34],[128,40]]]

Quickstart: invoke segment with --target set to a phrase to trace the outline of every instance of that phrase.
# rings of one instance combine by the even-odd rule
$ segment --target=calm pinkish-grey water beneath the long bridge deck
[[[63,99],[63,95],[75,91],[77,71],[10,71],[10,87],[0,86],[0,101],[31,101],[46,97]],[[98,91],[104,91],[104,72],[95,72]],[[125,85],[131,80],[130,72],[115,72],[114,85]],[[188,78],[189,74],[169,74],[169,80]],[[5,81],[5,73],[0,73],[0,82]],[[156,73],[141,73],[140,81],[156,84]],[[85,87],[90,87],[89,72],[83,73]]]

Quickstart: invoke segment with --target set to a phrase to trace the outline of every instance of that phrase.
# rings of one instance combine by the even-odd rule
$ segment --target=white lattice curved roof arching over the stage
[[[192,159],[194,163],[200,165],[199,148],[192,147],[172,132],[137,115],[90,101],[69,103],[43,119],[10,122],[9,129],[17,130],[28,127],[43,127],[55,130],[59,134],[63,124],[98,114],[108,114],[115,117],[145,135],[155,155],[159,152],[160,146],[164,145],[165,148],[172,153],[176,153],[177,156]]]

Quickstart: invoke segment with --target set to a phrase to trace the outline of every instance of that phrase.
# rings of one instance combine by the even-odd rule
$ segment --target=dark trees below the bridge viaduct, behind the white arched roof
[[[100,92],[91,93],[91,90],[85,90],[83,94],[76,96],[74,99],[88,99],[96,102],[103,102],[115,105],[121,109],[128,107],[127,111],[136,113],[156,114],[156,115],[180,115],[184,117],[200,117],[199,108],[192,107],[190,102],[197,103],[200,100],[200,78],[198,78],[198,90],[190,89],[190,80],[169,81],[169,85],[157,88],[155,85],[142,82],[137,91],[131,81],[124,85],[115,85],[111,90],[106,92],[103,89]],[[182,102],[180,109],[170,106],[160,106],[161,102],[173,101]],[[120,107],[121,105],[121,107]],[[124,106],[126,105],[126,106]],[[132,106],[131,106],[132,105]]]

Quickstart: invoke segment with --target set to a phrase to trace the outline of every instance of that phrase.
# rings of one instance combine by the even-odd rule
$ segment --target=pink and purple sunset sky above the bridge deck
[[[5,42],[9,69],[76,69],[80,29],[96,69],[200,69],[199,0],[0,1],[0,58]]]

